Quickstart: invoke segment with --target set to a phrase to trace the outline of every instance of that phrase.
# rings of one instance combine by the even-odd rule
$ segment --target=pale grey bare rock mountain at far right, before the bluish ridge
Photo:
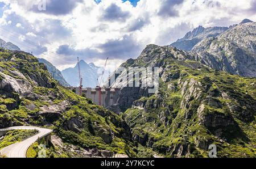
[[[256,23],[241,23],[193,47],[199,61],[214,69],[256,77]]]

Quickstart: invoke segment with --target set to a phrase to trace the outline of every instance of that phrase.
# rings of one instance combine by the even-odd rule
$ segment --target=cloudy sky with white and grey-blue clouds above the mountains
[[[256,21],[256,0],[0,0],[0,38],[60,70],[79,56],[97,66],[109,57],[113,71],[147,44],[245,18]]]

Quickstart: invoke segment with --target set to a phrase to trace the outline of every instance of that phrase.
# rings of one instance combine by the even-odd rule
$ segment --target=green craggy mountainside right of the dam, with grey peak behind
[[[255,157],[255,30],[254,22],[241,22],[203,39],[191,52],[147,45],[122,67],[160,67],[159,91],[124,86],[110,109],[151,155],[208,157],[214,144],[218,157]],[[126,73],[115,76],[112,87],[123,84]]]

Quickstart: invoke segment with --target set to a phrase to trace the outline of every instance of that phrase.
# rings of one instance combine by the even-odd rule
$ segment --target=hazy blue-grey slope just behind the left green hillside
[[[49,73],[52,74],[52,77],[54,79],[56,79],[56,81],[58,81],[62,86],[68,87],[70,86],[64,79],[63,75],[61,74],[60,70],[56,69],[55,66],[53,66],[50,62],[48,62],[47,60],[44,60],[42,58],[39,58],[38,61],[40,63],[43,63],[46,65],[47,70],[49,71]]]

